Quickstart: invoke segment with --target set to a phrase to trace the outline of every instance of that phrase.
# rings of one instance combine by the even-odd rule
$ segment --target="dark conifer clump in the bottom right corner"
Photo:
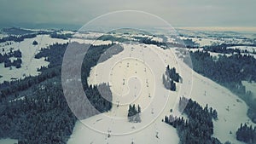
[[[256,143],[256,126],[241,124],[240,128],[236,131],[236,139],[238,141],[244,141],[247,144]]]

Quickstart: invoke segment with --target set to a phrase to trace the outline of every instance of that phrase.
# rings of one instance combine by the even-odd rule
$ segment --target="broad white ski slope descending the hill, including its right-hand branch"
[[[229,89],[225,89],[209,78],[193,72],[189,66],[183,63],[183,60],[176,59],[173,54],[178,52],[175,49],[164,50],[147,44],[123,45],[125,48],[123,52],[93,67],[90,78],[88,78],[89,84],[100,84],[102,82],[110,84],[113,92],[112,110],[78,121],[73,130],[73,135],[67,142],[68,144],[125,144],[132,141],[148,144],[178,143],[179,138],[176,130],[172,126],[161,122],[161,119],[171,114],[170,109],[174,110],[172,114],[180,115],[177,112],[177,102],[180,96],[191,97],[192,100],[199,102],[202,107],[208,104],[209,107],[217,110],[218,120],[213,120],[214,134],[212,136],[217,137],[223,143],[231,141],[232,143],[243,144],[241,141],[236,141],[236,130],[241,123],[253,123],[247,117],[248,107],[246,103],[237,95],[232,94]],[[143,60],[134,59],[134,57],[137,57],[136,55],[141,55],[140,58],[143,58]],[[161,62],[157,63],[158,60],[159,62],[161,60],[163,65],[160,65]],[[128,62],[131,69],[127,69]],[[156,66],[156,64],[159,64],[159,66]],[[161,76],[165,72],[166,64],[177,67],[177,72],[183,78],[183,84],[177,84],[177,92],[168,91],[161,84]],[[148,70],[143,74],[143,69],[148,67],[151,68],[154,77],[147,73]],[[123,75],[120,73],[123,73]],[[130,81],[127,80],[129,78]],[[148,78],[148,87],[144,83],[145,78]],[[125,82],[125,85],[122,84],[123,82]],[[141,90],[137,91],[135,87]],[[155,89],[155,92],[152,91],[152,88]],[[148,97],[147,90],[150,95],[157,95]],[[138,95],[140,97],[131,102],[134,93],[141,95]],[[124,95],[125,97],[122,97]],[[168,99],[166,100],[165,97],[168,97]],[[166,100],[166,105],[165,102],[162,102],[163,100]],[[125,101],[142,106],[141,123],[128,122],[126,118],[128,106],[125,105]],[[117,107],[117,103],[119,103],[119,107]],[[120,103],[124,103],[124,105]],[[163,111],[160,111],[162,108]],[[154,115],[150,113],[152,111],[160,114]],[[153,118],[153,123],[148,123],[148,119],[152,119],[152,117],[155,118]],[[147,126],[143,127],[143,125]],[[143,129],[141,129],[142,127]],[[110,137],[108,137],[108,133]]]

